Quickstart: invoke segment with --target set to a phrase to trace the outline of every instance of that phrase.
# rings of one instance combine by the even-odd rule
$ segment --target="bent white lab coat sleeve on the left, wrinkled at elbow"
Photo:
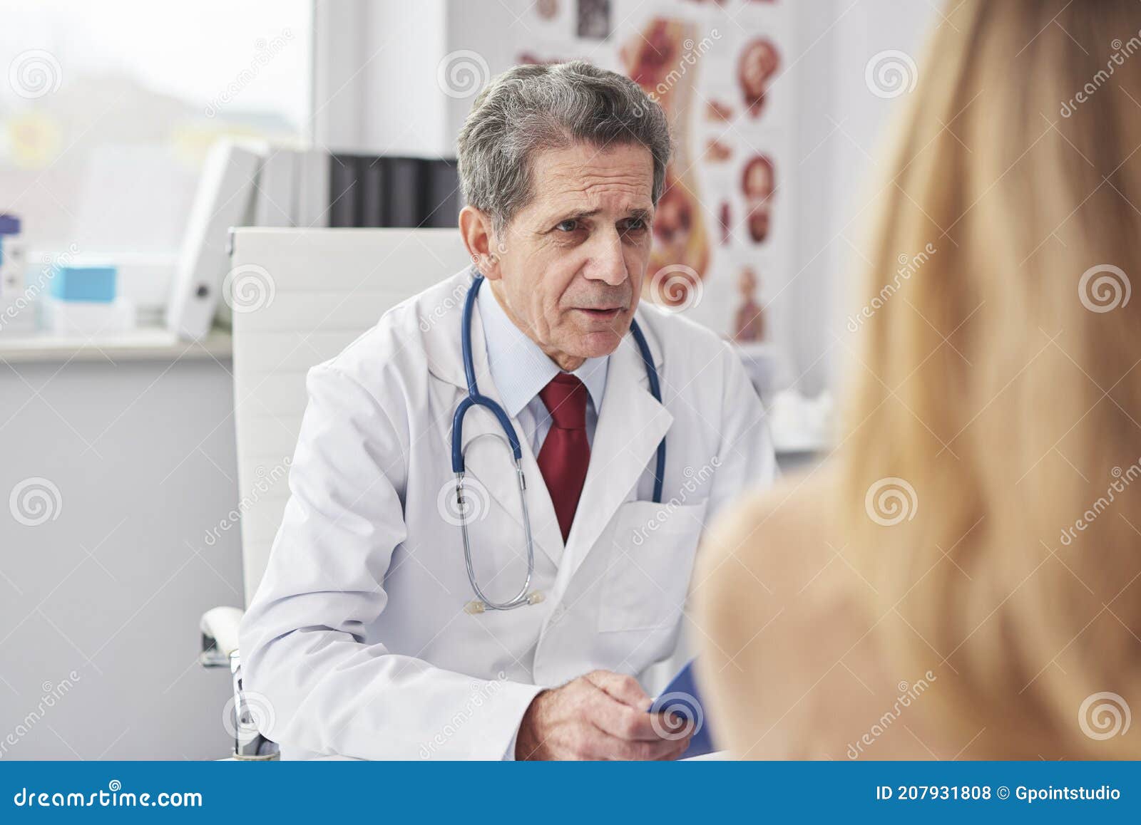
[[[285,749],[359,759],[503,759],[541,687],[475,679],[364,642],[405,538],[411,414],[389,416],[334,366],[310,370],[308,392],[291,497],[241,630],[243,691],[260,705],[262,734]]]

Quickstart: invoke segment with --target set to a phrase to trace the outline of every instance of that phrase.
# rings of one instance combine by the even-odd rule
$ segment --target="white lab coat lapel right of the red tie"
[[[647,325],[641,327],[661,370],[661,350]],[[653,471],[657,446],[672,423],[673,416],[649,391],[646,365],[628,333],[610,356],[586,481],[567,537],[567,558],[559,571],[560,591],[565,591],[617,508],[634,495],[641,474],[647,467]]]

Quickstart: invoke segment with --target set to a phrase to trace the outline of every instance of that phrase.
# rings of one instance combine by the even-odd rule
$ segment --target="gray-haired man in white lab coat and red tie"
[[[618,74],[519,66],[476,98],[458,149],[475,264],[310,370],[244,689],[286,759],[675,758],[688,737],[646,712],[637,677],[678,644],[704,524],[775,461],[729,346],[639,305],[665,117]],[[525,518],[487,408],[463,420],[462,504],[452,471],[476,269],[472,377],[518,433],[533,536],[509,610],[488,602],[525,581]]]

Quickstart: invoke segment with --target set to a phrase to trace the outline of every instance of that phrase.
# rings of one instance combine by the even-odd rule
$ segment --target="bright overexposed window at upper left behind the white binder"
[[[0,0],[0,212],[33,262],[169,260],[217,138],[309,134],[311,0]],[[168,286],[121,289],[144,312]]]

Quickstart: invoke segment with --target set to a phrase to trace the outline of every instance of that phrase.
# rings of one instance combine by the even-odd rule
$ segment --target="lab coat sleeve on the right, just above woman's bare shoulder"
[[[722,344],[721,442],[705,523],[750,489],[770,487],[777,476],[772,435],[761,399],[736,351]]]

